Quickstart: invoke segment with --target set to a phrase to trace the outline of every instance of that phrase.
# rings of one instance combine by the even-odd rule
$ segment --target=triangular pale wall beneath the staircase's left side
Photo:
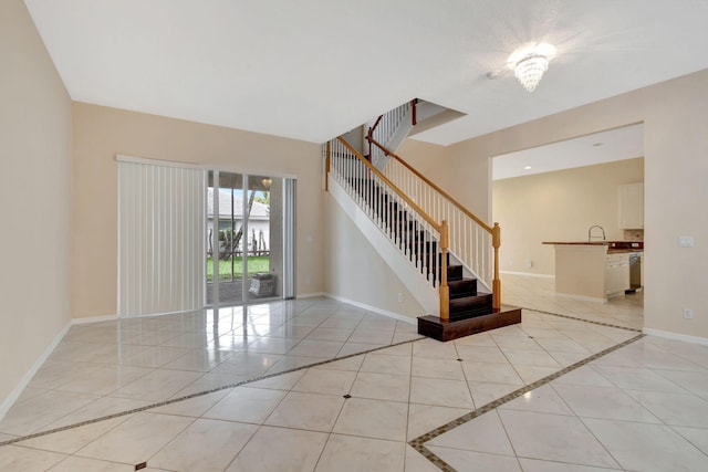
[[[325,213],[326,293],[412,318],[427,314],[330,195]]]

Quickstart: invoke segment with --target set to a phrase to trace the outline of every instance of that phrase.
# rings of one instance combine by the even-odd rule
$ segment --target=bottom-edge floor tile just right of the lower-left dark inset
[[[159,469],[222,471],[256,433],[258,427],[199,419],[149,460]]]

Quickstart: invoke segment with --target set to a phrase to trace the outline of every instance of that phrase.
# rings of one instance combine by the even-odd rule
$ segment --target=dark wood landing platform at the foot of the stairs
[[[451,322],[442,322],[438,316],[433,315],[420,316],[418,334],[437,340],[452,340],[518,323],[521,323],[521,308],[501,305],[501,310],[492,311],[488,315]]]

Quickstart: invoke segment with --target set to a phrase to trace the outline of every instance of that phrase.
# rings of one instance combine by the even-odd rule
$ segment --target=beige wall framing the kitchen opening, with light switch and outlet
[[[452,145],[437,179],[489,211],[490,156],[644,122],[645,327],[708,338],[707,109],[701,71]],[[679,235],[693,235],[695,247],[678,248]],[[695,318],[684,319],[683,307]]]

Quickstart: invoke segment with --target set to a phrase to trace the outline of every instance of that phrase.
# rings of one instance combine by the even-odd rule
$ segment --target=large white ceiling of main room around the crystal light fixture
[[[449,145],[708,69],[708,0],[25,0],[72,99],[323,143],[414,97]],[[558,49],[539,87],[502,74]]]

